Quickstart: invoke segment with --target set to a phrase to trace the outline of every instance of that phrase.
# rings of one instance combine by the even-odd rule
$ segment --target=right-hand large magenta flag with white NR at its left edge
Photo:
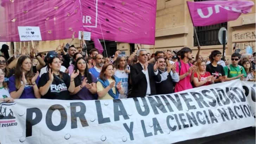
[[[92,38],[155,44],[156,0],[81,0]]]

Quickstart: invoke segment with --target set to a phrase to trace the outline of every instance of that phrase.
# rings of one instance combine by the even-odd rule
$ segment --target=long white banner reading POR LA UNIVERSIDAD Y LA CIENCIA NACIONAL
[[[252,89],[234,80],[130,99],[17,99],[0,105],[0,143],[170,144],[217,135],[255,125]]]

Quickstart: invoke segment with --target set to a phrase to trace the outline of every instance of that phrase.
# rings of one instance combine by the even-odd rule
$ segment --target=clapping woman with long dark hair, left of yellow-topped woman
[[[75,71],[79,71],[79,75],[75,80],[75,91],[71,92],[71,99],[74,100],[94,100],[93,94],[96,94],[97,79],[89,73],[88,65],[84,58],[77,58],[75,62]]]

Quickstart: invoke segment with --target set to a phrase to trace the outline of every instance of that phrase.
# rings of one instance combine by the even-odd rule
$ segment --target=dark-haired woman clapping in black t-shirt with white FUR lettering
[[[42,74],[39,80],[39,92],[45,99],[70,99],[69,92],[74,92],[74,79],[79,71],[69,74],[61,72],[61,61],[58,56],[52,56],[48,60],[47,73]]]

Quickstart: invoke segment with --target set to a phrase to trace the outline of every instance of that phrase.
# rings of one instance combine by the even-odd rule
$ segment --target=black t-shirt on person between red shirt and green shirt
[[[209,72],[212,76],[216,76],[216,79],[218,79],[220,76],[225,76],[225,72],[223,69],[223,66],[217,65],[217,67],[213,66],[212,64],[209,64],[206,66],[206,71]],[[216,82],[220,83],[220,82]]]

